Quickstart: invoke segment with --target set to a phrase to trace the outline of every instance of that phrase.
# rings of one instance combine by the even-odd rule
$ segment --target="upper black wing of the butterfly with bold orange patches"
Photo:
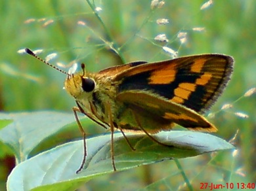
[[[117,94],[143,90],[198,113],[209,109],[221,95],[233,71],[234,60],[222,54],[186,56],[144,63],[118,73]]]

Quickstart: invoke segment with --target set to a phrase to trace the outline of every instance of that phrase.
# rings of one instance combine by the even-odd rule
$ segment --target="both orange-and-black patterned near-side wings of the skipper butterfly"
[[[126,105],[117,117],[119,126],[140,129],[127,109],[137,113],[140,125],[151,133],[169,130],[174,123],[217,131],[201,114],[221,96],[233,63],[230,56],[203,54],[145,63],[117,74],[113,80],[121,83],[116,98]]]

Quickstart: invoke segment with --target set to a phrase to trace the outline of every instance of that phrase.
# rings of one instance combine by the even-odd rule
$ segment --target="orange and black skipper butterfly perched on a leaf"
[[[47,63],[32,50],[26,52]],[[83,169],[86,156],[85,132],[77,112],[111,131],[111,154],[114,171],[114,130],[143,131],[152,135],[171,130],[175,124],[194,131],[215,132],[203,113],[221,96],[233,71],[234,60],[223,54],[199,54],[173,60],[147,63],[136,61],[89,73],[85,65],[74,64],[64,88],[75,99],[75,118],[84,137]],[[162,143],[160,143],[162,144]],[[131,145],[130,145],[131,146]],[[131,147],[133,148],[133,147]]]

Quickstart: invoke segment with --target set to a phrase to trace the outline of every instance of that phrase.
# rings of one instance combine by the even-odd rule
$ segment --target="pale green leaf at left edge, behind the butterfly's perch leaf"
[[[14,121],[0,130],[0,141],[12,148],[18,163],[26,160],[33,148],[43,139],[75,120],[74,114],[52,111],[1,113],[0,119]]]

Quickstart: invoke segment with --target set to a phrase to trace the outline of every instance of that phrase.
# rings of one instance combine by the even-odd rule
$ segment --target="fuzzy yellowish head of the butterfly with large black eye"
[[[79,71],[77,63],[74,63],[68,71],[64,88],[76,99],[79,99],[79,97],[89,97],[93,90],[95,90],[95,80],[87,76],[85,64],[81,64],[81,71]]]

